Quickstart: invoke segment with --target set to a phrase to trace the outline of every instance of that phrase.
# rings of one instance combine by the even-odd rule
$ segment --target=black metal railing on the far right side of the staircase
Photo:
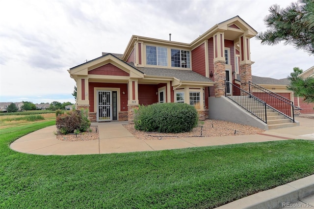
[[[294,122],[294,108],[301,109],[295,105],[293,102],[288,100],[287,98],[276,94],[268,89],[263,88],[251,81],[249,81],[249,93],[264,101],[267,105],[277,110],[281,114],[288,117],[290,120]]]

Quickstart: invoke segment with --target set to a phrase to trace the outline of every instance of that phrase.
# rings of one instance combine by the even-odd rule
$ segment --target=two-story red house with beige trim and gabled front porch
[[[132,123],[138,105],[179,102],[196,106],[204,120],[210,94],[225,95],[225,79],[235,83],[237,75],[248,90],[250,39],[256,34],[235,16],[191,43],[132,35],[123,54],[103,52],[68,70],[77,83],[76,106],[89,109],[92,122]],[[226,91],[232,94],[232,85]]]

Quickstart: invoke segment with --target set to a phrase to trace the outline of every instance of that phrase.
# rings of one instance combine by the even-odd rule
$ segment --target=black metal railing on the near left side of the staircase
[[[237,91],[239,91],[241,96],[227,95],[227,85],[232,85],[232,88],[235,88]],[[241,89],[228,80],[225,80],[225,96],[267,124],[266,113],[269,111],[267,110],[268,105],[258,97]]]

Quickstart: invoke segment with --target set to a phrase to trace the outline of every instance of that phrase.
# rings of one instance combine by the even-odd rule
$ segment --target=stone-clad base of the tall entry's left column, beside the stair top
[[[226,63],[224,61],[214,63],[214,78],[215,97],[221,97],[225,95]]]

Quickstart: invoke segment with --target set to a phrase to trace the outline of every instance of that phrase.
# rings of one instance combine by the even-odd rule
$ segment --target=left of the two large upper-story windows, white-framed
[[[146,64],[168,66],[167,48],[146,46]]]

